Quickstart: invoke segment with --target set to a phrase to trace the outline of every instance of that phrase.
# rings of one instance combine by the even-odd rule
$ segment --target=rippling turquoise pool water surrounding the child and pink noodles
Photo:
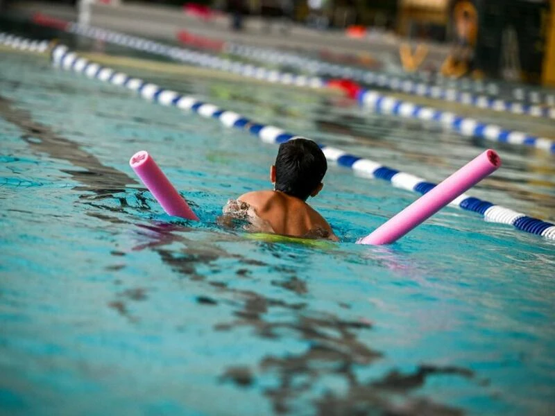
[[[253,241],[215,219],[268,186],[274,146],[6,56],[1,408],[553,412],[552,241],[447,208],[395,245],[355,245],[415,195],[336,166],[314,206],[341,244]],[[436,182],[485,146],[334,96],[126,71]],[[128,167],[143,148],[203,223],[169,218],[144,192]],[[472,195],[555,220],[553,156],[496,148],[504,167]]]

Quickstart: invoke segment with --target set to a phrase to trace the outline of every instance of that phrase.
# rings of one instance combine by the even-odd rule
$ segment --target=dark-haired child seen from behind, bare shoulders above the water
[[[228,218],[247,220],[249,231],[338,241],[327,221],[306,200],[323,188],[327,162],[314,141],[302,137],[280,145],[270,168],[273,191],[253,191],[229,200]]]

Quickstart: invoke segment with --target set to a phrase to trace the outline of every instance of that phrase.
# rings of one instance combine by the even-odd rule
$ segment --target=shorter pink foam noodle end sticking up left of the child
[[[141,150],[131,157],[129,164],[167,214],[198,221],[198,216],[189,208],[151,155]]]

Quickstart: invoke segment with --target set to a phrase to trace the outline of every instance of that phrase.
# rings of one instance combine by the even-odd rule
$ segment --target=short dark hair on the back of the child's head
[[[326,171],[324,153],[314,141],[302,138],[286,141],[275,158],[275,190],[307,200]]]

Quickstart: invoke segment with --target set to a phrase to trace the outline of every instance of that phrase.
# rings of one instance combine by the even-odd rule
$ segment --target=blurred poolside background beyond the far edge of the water
[[[268,39],[264,43],[265,37],[271,37],[274,43],[276,37],[287,37],[286,44],[278,46],[296,47],[300,43],[313,48],[319,45],[330,53],[364,52],[369,54],[367,60],[375,58],[375,64],[380,59],[373,53],[389,52],[404,71],[441,71],[444,76],[456,78],[490,77],[555,84],[555,7],[550,0],[0,0],[0,3],[8,12],[48,12],[62,18],[74,17],[85,24],[156,37],[164,37],[170,27],[188,28],[199,35],[232,36],[228,40],[261,46],[273,46]],[[243,36],[238,38],[237,33]]]

